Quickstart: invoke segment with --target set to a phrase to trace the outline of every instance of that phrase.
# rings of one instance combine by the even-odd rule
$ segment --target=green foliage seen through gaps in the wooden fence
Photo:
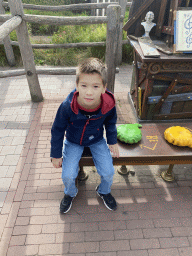
[[[69,1],[69,0],[22,0],[26,4],[36,5],[65,5],[84,1]],[[87,16],[86,12],[74,14],[71,11],[63,12],[46,12],[38,10],[24,10],[27,14],[34,15],[49,15],[49,16]],[[128,20],[128,10],[125,13],[124,23]],[[79,43],[79,42],[106,42],[106,24],[92,24],[92,25],[69,25],[69,26],[55,26],[55,25],[39,25],[35,23],[28,23],[28,32],[32,43],[44,43],[43,39],[35,40],[33,36],[50,36],[50,43]],[[11,32],[10,38],[12,41],[17,41],[15,30]],[[42,37],[41,37],[42,38]],[[126,32],[123,31],[123,39],[127,39]],[[47,42],[47,40],[45,41]],[[22,65],[19,47],[13,47],[16,56],[17,65]],[[81,47],[70,49],[34,49],[34,59],[36,65],[55,65],[55,66],[76,66],[78,62],[86,57],[98,57],[105,60],[105,46],[97,47]],[[129,44],[123,45],[123,62],[132,62],[132,47]],[[4,47],[0,47],[0,66],[8,65]]]

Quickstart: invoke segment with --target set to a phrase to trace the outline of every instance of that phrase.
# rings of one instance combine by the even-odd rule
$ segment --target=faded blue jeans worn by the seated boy
[[[114,167],[113,159],[107,146],[106,140],[89,146],[95,167],[101,176],[101,183],[98,192],[108,194],[111,192],[113,183]],[[78,189],[75,186],[75,179],[79,172],[79,160],[81,159],[84,146],[69,142],[64,142],[63,163],[62,163],[62,180],[65,185],[64,193],[71,197],[76,196]]]

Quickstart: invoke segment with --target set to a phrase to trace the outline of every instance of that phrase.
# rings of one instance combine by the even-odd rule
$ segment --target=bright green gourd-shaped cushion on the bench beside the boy
[[[117,138],[125,143],[134,144],[141,140],[141,124],[122,124],[117,127]]]

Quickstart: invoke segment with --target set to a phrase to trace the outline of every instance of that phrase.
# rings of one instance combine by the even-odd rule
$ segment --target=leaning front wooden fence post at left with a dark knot
[[[24,16],[23,6],[21,0],[9,0],[8,1],[11,14],[13,16],[20,15]],[[40,102],[43,100],[43,95],[41,92],[38,76],[35,69],[33,50],[29,40],[29,34],[27,30],[27,24],[23,20],[22,23],[16,28],[18,43],[20,47],[20,52],[23,60],[23,65],[26,71],[27,81],[29,85],[29,90],[31,94],[31,99],[34,102]]]

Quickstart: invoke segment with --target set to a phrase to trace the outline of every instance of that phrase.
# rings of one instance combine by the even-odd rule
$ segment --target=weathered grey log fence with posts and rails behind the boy
[[[31,45],[27,30],[27,22],[33,22],[37,24],[48,25],[88,25],[88,24],[102,24],[107,23],[107,38],[106,38],[106,65],[108,68],[108,89],[114,92],[114,81],[116,66],[118,63],[119,45],[122,47],[122,22],[123,12],[125,12],[127,0],[119,0],[122,8],[118,3],[90,3],[90,4],[74,4],[64,6],[40,6],[22,4],[21,0],[8,0],[3,2],[0,0],[0,22],[3,24],[0,26],[0,41],[3,41],[6,49],[7,58],[10,64],[14,65],[14,55],[11,45],[18,45],[20,48],[24,69],[1,71],[0,77],[8,77],[12,75],[26,74],[31,99],[34,102],[43,100],[39,80],[37,74],[75,74],[75,68],[40,68],[36,69],[34,63],[34,56],[32,48],[71,48],[82,46],[97,46],[103,43],[78,43],[78,44],[48,44],[48,45]],[[4,7],[9,6],[11,15],[7,15],[4,12]],[[23,9],[33,10],[47,10],[47,11],[61,11],[61,10],[85,10],[85,9],[97,9],[106,8],[106,17],[61,17],[61,16],[46,16],[46,15],[29,15],[24,14]],[[12,30],[16,30],[18,42],[11,42],[9,34]],[[121,38],[121,40],[120,40]],[[121,42],[121,43],[120,43]]]

